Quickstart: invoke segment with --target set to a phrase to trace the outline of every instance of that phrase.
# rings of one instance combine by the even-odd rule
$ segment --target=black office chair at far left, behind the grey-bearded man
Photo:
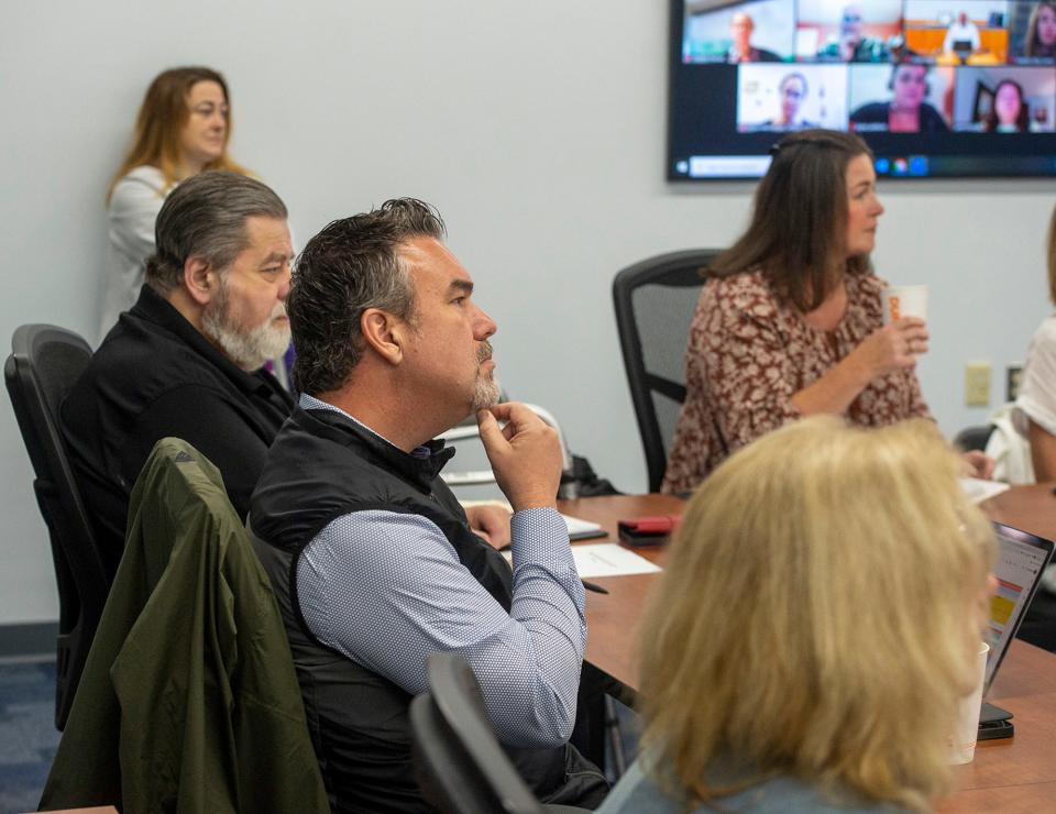
[[[47,525],[58,583],[55,726],[62,730],[77,692],[110,582],[77,491],[59,429],[58,410],[91,359],[72,331],[26,324],[14,332],[3,366],[8,394],[36,479],[33,491]]]

